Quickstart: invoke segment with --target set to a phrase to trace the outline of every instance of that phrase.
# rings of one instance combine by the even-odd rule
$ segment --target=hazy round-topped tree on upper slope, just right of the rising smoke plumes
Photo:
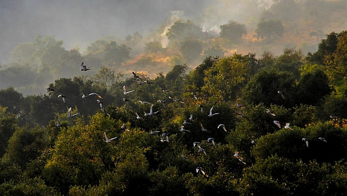
[[[227,24],[221,25],[220,37],[230,40],[232,43],[240,42],[242,36],[247,33],[246,25],[242,25],[235,21],[229,21]]]

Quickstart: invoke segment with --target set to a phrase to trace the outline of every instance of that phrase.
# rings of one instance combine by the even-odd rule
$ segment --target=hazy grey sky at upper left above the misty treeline
[[[95,40],[146,35],[182,11],[195,19],[218,0],[0,0],[0,63],[21,42],[38,35],[55,35],[67,50],[82,53]]]

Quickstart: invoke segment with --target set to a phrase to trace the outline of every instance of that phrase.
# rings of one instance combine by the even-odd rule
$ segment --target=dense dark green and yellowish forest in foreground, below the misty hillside
[[[346,195],[346,42],[1,89],[0,195]]]

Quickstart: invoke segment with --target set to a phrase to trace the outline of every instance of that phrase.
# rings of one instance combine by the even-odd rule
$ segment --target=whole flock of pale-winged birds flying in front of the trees
[[[82,62],[82,63],[81,63],[81,71],[88,71],[88,70],[91,70],[90,67],[85,66],[84,63]],[[142,82],[142,81],[141,81],[142,79],[141,79],[135,72],[132,72],[132,74],[133,74],[133,78],[140,79],[140,81],[136,81],[137,84],[140,84],[140,85],[142,85],[142,84],[154,84],[153,82],[150,82],[150,81],[143,81],[143,82]],[[165,92],[165,93],[171,93],[171,92],[172,92],[172,91],[170,91],[170,90],[167,90],[167,89],[164,89],[164,88],[161,88],[161,87],[160,87],[160,89],[161,89],[163,92]],[[49,91],[52,91],[52,92],[55,91],[53,88],[50,88],[50,87],[47,87],[47,90],[48,90],[48,92],[49,92]],[[127,91],[126,88],[125,88],[125,85],[123,86],[123,93],[124,93],[124,95],[128,95],[128,94],[130,94],[130,93],[132,93],[132,92],[134,92],[134,91],[135,91],[135,90]],[[192,93],[192,95],[193,95],[193,98],[194,98],[195,100],[198,100],[198,99],[197,99],[197,93],[195,93],[195,92],[191,92],[191,93]],[[279,90],[278,90],[277,93],[280,94],[281,97],[282,97],[283,99],[285,99],[285,97],[284,97],[282,91],[279,91]],[[91,96],[97,96],[99,99],[102,99],[102,97],[101,97],[99,94],[95,93],[95,92],[92,92],[92,93],[90,93],[90,94],[88,94],[88,95],[82,93],[82,98],[83,98],[83,99],[84,99],[84,98],[90,98]],[[58,97],[59,97],[59,98],[62,98],[63,102],[66,103],[66,96],[64,96],[63,94],[59,94]],[[101,111],[102,111],[103,113],[106,113],[107,115],[110,115],[110,114],[108,114],[108,112],[106,111],[106,109],[104,109],[104,108],[102,107],[102,102],[101,102],[99,99],[97,99],[97,102],[99,103],[99,106],[100,106]],[[178,100],[178,99],[174,99],[174,98],[172,98],[171,96],[169,96],[169,99],[172,99],[173,102],[185,103],[185,102],[182,102],[182,101],[180,101],[180,100]],[[126,98],[123,98],[123,101],[124,101],[124,102],[131,102],[129,99],[126,99]],[[138,102],[140,102],[141,104],[151,104],[151,103],[149,103],[149,102],[141,101],[141,100],[138,101]],[[157,102],[162,103],[163,107],[166,108],[166,103],[165,103],[163,100],[158,100]],[[200,105],[200,104],[199,104],[198,106],[199,106],[199,108],[200,108],[200,111],[201,111],[202,113],[204,113],[204,112],[203,112],[204,106],[202,106],[202,105]],[[236,107],[241,108],[241,107],[243,107],[243,106],[242,106],[242,104],[237,103],[237,104],[236,104]],[[210,109],[210,111],[209,111],[209,114],[208,114],[209,117],[213,117],[213,116],[216,116],[216,115],[219,114],[219,113],[213,113],[212,110],[213,110],[213,107],[212,107],[212,108]],[[147,112],[144,111],[144,116],[152,116],[152,115],[155,115],[155,114],[158,113],[158,112],[160,112],[160,110],[159,110],[159,111],[156,111],[156,112],[153,112],[153,104],[151,104],[151,106],[150,106],[150,108],[149,108],[149,113],[147,113]],[[269,114],[271,114],[271,115],[273,115],[273,116],[275,116],[275,114],[274,114],[272,111],[270,111],[270,110],[266,110],[266,112],[269,113]],[[68,117],[68,118],[73,118],[73,117],[74,117],[75,115],[77,115],[77,114],[78,114],[78,113],[75,113],[75,114],[72,115],[72,114],[71,114],[71,107],[70,107],[70,108],[68,109],[68,115],[67,115],[67,117]],[[137,119],[143,119],[137,112],[135,112],[135,114],[136,114],[136,118],[137,118]],[[237,112],[236,112],[236,114],[237,114],[237,115],[240,115],[241,118],[245,118],[245,119],[247,119],[247,120],[250,120],[250,119],[249,119],[247,116],[245,116],[244,114],[237,113]],[[333,119],[333,118],[336,118],[336,116],[330,115],[330,118]],[[190,117],[189,117],[188,119],[189,119],[190,121],[192,121],[192,120],[193,120],[193,114],[190,114]],[[58,116],[56,116],[55,121],[56,121],[56,126],[57,126],[57,127],[60,127],[60,123],[59,123]],[[277,125],[278,128],[281,128],[281,124],[280,124],[279,121],[274,120],[273,123],[274,123],[275,125]],[[190,132],[189,130],[186,130],[186,129],[184,128],[184,126],[185,126],[185,125],[188,125],[188,124],[192,124],[192,123],[191,123],[191,122],[187,122],[186,120],[184,120],[183,125],[181,126],[181,129],[180,129],[179,131],[181,131],[181,132]],[[201,122],[199,122],[199,125],[200,125],[200,127],[201,127],[201,131],[203,131],[203,132],[209,132],[209,131],[207,131],[207,129],[205,129],[205,128],[203,127],[203,125],[202,125]],[[285,129],[291,129],[291,130],[293,130],[292,128],[289,127],[289,125],[290,125],[290,123],[286,123],[286,126],[285,126],[284,128],[285,128]],[[226,130],[224,124],[218,125],[217,128],[218,128],[218,129],[219,129],[219,128],[223,128],[223,130],[224,130],[225,132],[227,132],[227,130]],[[125,124],[122,125],[122,129],[125,129]],[[126,131],[129,131],[129,130],[126,129]],[[158,134],[159,132],[160,132],[160,131],[150,131],[150,135],[156,135],[156,134]],[[106,143],[109,143],[109,142],[111,142],[112,140],[117,139],[117,137],[108,139],[108,137],[106,136],[106,133],[105,133],[105,132],[104,132],[104,138],[105,138],[105,142],[106,142]],[[325,140],[324,138],[319,138],[319,140],[322,140],[322,141],[324,141],[324,142],[327,142],[327,140]],[[160,141],[161,141],[161,142],[169,142],[169,141],[170,141],[170,140],[169,140],[169,134],[163,133],[163,134],[162,134],[162,138],[160,138]],[[305,141],[305,144],[306,144],[306,146],[308,147],[308,139],[302,138],[302,141]],[[213,138],[208,138],[208,139],[207,139],[207,142],[212,142],[213,146],[216,146],[216,143],[215,143],[215,141],[214,141]],[[257,143],[255,140],[251,140],[251,143],[254,144],[254,145],[258,145],[258,143]],[[203,149],[203,148],[200,146],[200,142],[197,142],[197,141],[194,142],[194,143],[193,143],[193,146],[194,146],[194,147],[198,147],[198,152],[202,152],[202,153],[204,153],[204,154],[207,156],[207,152],[206,152],[205,149]],[[181,157],[182,157],[184,160],[190,159],[189,157],[186,157],[186,156],[184,156],[184,155],[182,155]],[[236,157],[241,163],[243,163],[243,164],[246,165],[246,162],[245,162],[244,158],[243,158],[242,156],[239,155],[239,152],[238,152],[238,151],[235,151],[235,152],[234,152],[234,157]],[[201,168],[201,167],[198,167],[198,168],[196,169],[196,171],[197,171],[197,172],[200,171],[203,175],[205,175],[205,171],[204,171],[203,168]]]

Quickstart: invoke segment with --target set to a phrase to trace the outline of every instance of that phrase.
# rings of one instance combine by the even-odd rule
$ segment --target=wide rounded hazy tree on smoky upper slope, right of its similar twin
[[[284,26],[281,21],[269,20],[269,21],[260,21],[257,24],[255,32],[258,35],[258,38],[263,38],[269,41],[273,41],[277,38],[283,36]]]

